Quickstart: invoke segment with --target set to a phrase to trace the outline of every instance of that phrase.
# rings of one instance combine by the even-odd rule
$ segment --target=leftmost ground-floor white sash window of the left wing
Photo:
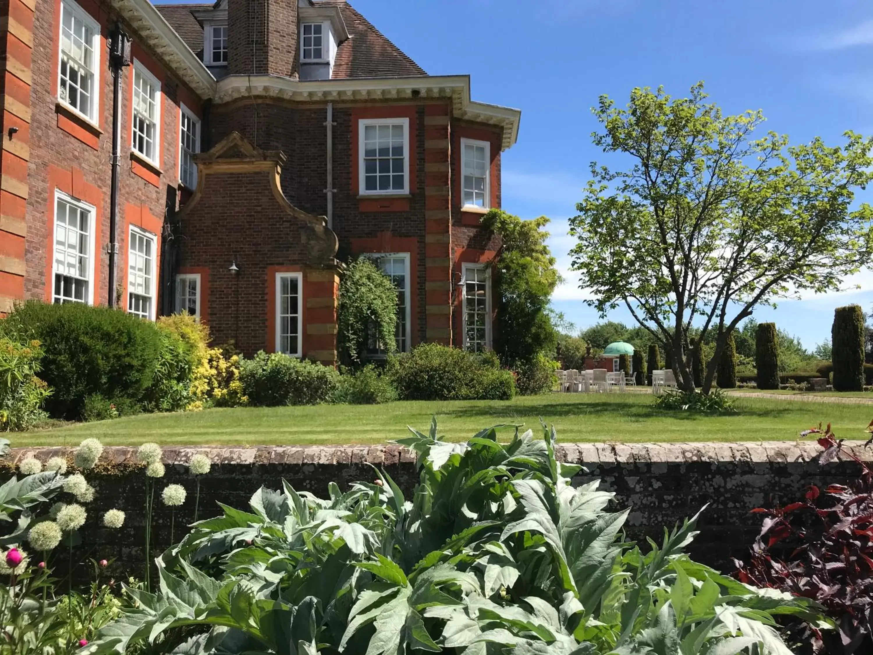
[[[56,303],[92,300],[94,208],[71,196],[55,196],[55,239],[52,300]]]

